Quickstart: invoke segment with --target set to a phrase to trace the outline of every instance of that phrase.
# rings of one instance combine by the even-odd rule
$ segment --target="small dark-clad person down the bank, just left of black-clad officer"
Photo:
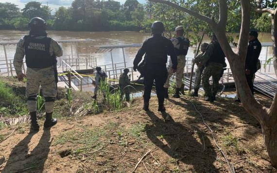
[[[121,91],[121,98],[123,97],[123,94],[125,93],[126,102],[130,101],[130,88],[126,87],[130,85],[130,75],[128,76],[129,69],[124,69],[124,72],[119,77],[119,87]]]

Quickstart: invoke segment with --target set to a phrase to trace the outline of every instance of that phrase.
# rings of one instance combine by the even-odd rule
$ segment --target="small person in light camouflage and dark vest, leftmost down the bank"
[[[106,82],[106,78],[108,77],[106,73],[101,69],[101,67],[96,67],[96,75],[95,75],[95,88],[94,88],[94,96],[91,96],[93,99],[97,99],[97,92],[101,87],[101,84],[104,85]],[[105,90],[102,91],[105,97]]]

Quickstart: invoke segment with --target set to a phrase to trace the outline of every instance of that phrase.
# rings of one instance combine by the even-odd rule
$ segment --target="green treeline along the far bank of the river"
[[[114,0],[74,0],[69,8],[61,6],[54,15],[50,7],[36,1],[26,3],[23,9],[13,3],[0,3],[0,30],[26,30],[33,17],[46,19],[48,30],[66,31],[149,31],[154,20],[162,20],[168,31],[176,25],[191,26],[188,31],[195,30],[192,26],[203,25],[167,6],[151,2],[143,5],[137,0],[126,0],[122,5]],[[238,32],[239,24],[232,25],[235,27],[228,32]],[[252,20],[252,26],[269,32],[271,19],[263,14]]]

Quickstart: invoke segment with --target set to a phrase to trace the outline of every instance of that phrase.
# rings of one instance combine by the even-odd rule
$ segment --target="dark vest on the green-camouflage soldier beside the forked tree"
[[[225,54],[222,51],[220,44],[217,41],[212,42],[214,49],[212,54],[210,55],[210,58],[207,62],[208,63],[220,63],[220,64],[225,64]]]

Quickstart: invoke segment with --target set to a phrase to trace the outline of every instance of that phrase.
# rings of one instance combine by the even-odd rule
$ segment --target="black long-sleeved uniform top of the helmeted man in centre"
[[[177,69],[177,56],[174,52],[173,43],[164,36],[155,34],[153,37],[150,37],[143,42],[134,60],[134,67],[138,67],[138,63],[141,61],[144,53],[146,69],[155,70],[166,68],[168,54],[171,57],[173,64],[172,68]]]

